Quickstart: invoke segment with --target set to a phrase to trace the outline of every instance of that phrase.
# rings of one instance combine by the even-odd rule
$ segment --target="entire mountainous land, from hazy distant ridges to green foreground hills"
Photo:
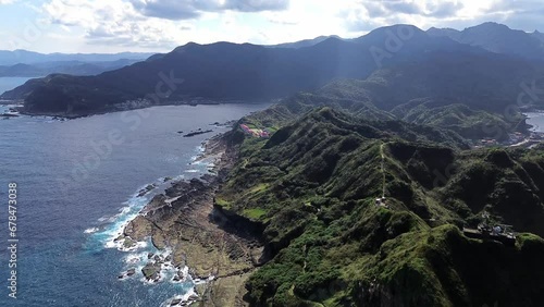
[[[227,253],[221,261],[237,269],[206,266],[214,279],[201,306],[539,307],[544,146],[474,146],[527,135],[521,110],[544,108],[537,41],[539,33],[486,23],[275,47],[187,44],[95,76],[33,79],[0,98],[64,116],[280,98],[218,138],[225,167],[203,196],[213,211],[198,214],[225,235],[193,230],[173,214],[177,200],[153,210],[162,221],[146,213],[137,219],[149,228],[129,224],[156,229],[158,248],[183,240],[169,247],[184,266],[194,265],[178,249],[186,245]],[[247,246],[225,244],[235,234]]]

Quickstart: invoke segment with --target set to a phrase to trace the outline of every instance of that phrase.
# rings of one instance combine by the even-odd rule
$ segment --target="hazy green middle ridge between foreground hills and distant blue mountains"
[[[491,137],[507,140],[509,133],[527,133],[523,114],[519,109],[512,109],[514,105],[508,105],[504,99],[490,98],[491,100],[483,100],[487,103],[483,105],[471,101],[468,96],[462,98],[461,91],[458,93],[461,98],[456,99],[445,96],[432,97],[436,95],[433,93],[440,91],[442,85],[430,84],[432,90],[424,93],[412,91],[408,87],[405,96],[397,98],[395,103],[399,105],[387,111],[384,110],[387,106],[375,94],[374,82],[372,78],[336,79],[316,93],[300,93],[285,98],[247,120],[256,126],[276,130],[314,108],[330,107],[360,120],[403,120],[407,123],[445,128],[468,139]],[[404,82],[411,84],[410,81]],[[390,90],[395,91],[397,88],[392,87]]]

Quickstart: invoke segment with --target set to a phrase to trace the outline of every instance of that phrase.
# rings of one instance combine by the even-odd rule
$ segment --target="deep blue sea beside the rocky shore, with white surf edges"
[[[1,87],[0,87],[1,88]],[[201,143],[265,105],[156,107],[70,121],[0,120],[0,306],[161,306],[190,281],[147,284],[140,268],[150,245],[111,246],[124,222],[166,184],[144,198],[139,189],[165,176],[190,179]],[[0,106],[0,111],[5,107]],[[214,130],[189,138],[177,132]],[[17,299],[9,294],[8,184],[17,184]]]

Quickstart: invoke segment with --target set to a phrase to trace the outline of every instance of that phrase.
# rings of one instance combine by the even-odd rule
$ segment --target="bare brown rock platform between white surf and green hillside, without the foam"
[[[224,155],[226,143],[212,138],[206,146],[206,155],[217,157],[218,165],[228,168],[235,154]],[[236,230],[226,222],[218,225],[210,217],[213,212],[213,198],[222,177],[203,175],[190,181],[173,182],[165,195],[157,195],[126,228],[125,233],[140,241],[138,235],[147,234],[141,240],[151,237],[154,246],[172,248],[162,261],[177,268],[174,282],[183,282],[185,266],[189,267],[195,279],[200,278],[198,295],[194,300],[202,300],[202,306],[237,306],[244,295],[244,283],[255,269],[252,258],[259,255],[249,253],[256,237],[247,237],[244,230]],[[252,249],[251,249],[252,250]],[[166,254],[163,254],[166,255]],[[157,255],[148,255],[151,263],[143,269],[147,280],[159,278],[160,267]],[[218,279],[210,280],[210,277]],[[220,278],[221,277],[221,278]],[[218,291],[215,291],[218,290]],[[191,302],[194,302],[191,300]],[[180,306],[190,305],[189,300]]]

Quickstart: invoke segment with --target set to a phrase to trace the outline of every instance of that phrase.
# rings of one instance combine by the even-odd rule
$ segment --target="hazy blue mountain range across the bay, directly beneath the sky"
[[[489,28],[490,24],[479,27]],[[505,39],[530,36],[504,26],[491,27],[511,33]],[[429,97],[480,108],[516,101],[519,85],[542,75],[543,65],[537,64],[542,61],[544,58],[491,52],[410,25],[396,25],[357,39],[330,37],[304,48],[187,44],[97,76],[50,75],[1,98],[25,99],[28,113],[85,115],[120,110],[127,101],[147,107],[280,98],[320,88],[335,78],[373,75],[380,82],[368,83],[372,87],[367,88],[368,98],[380,109]],[[396,90],[390,90],[393,83]],[[405,91],[411,93],[410,99]]]

